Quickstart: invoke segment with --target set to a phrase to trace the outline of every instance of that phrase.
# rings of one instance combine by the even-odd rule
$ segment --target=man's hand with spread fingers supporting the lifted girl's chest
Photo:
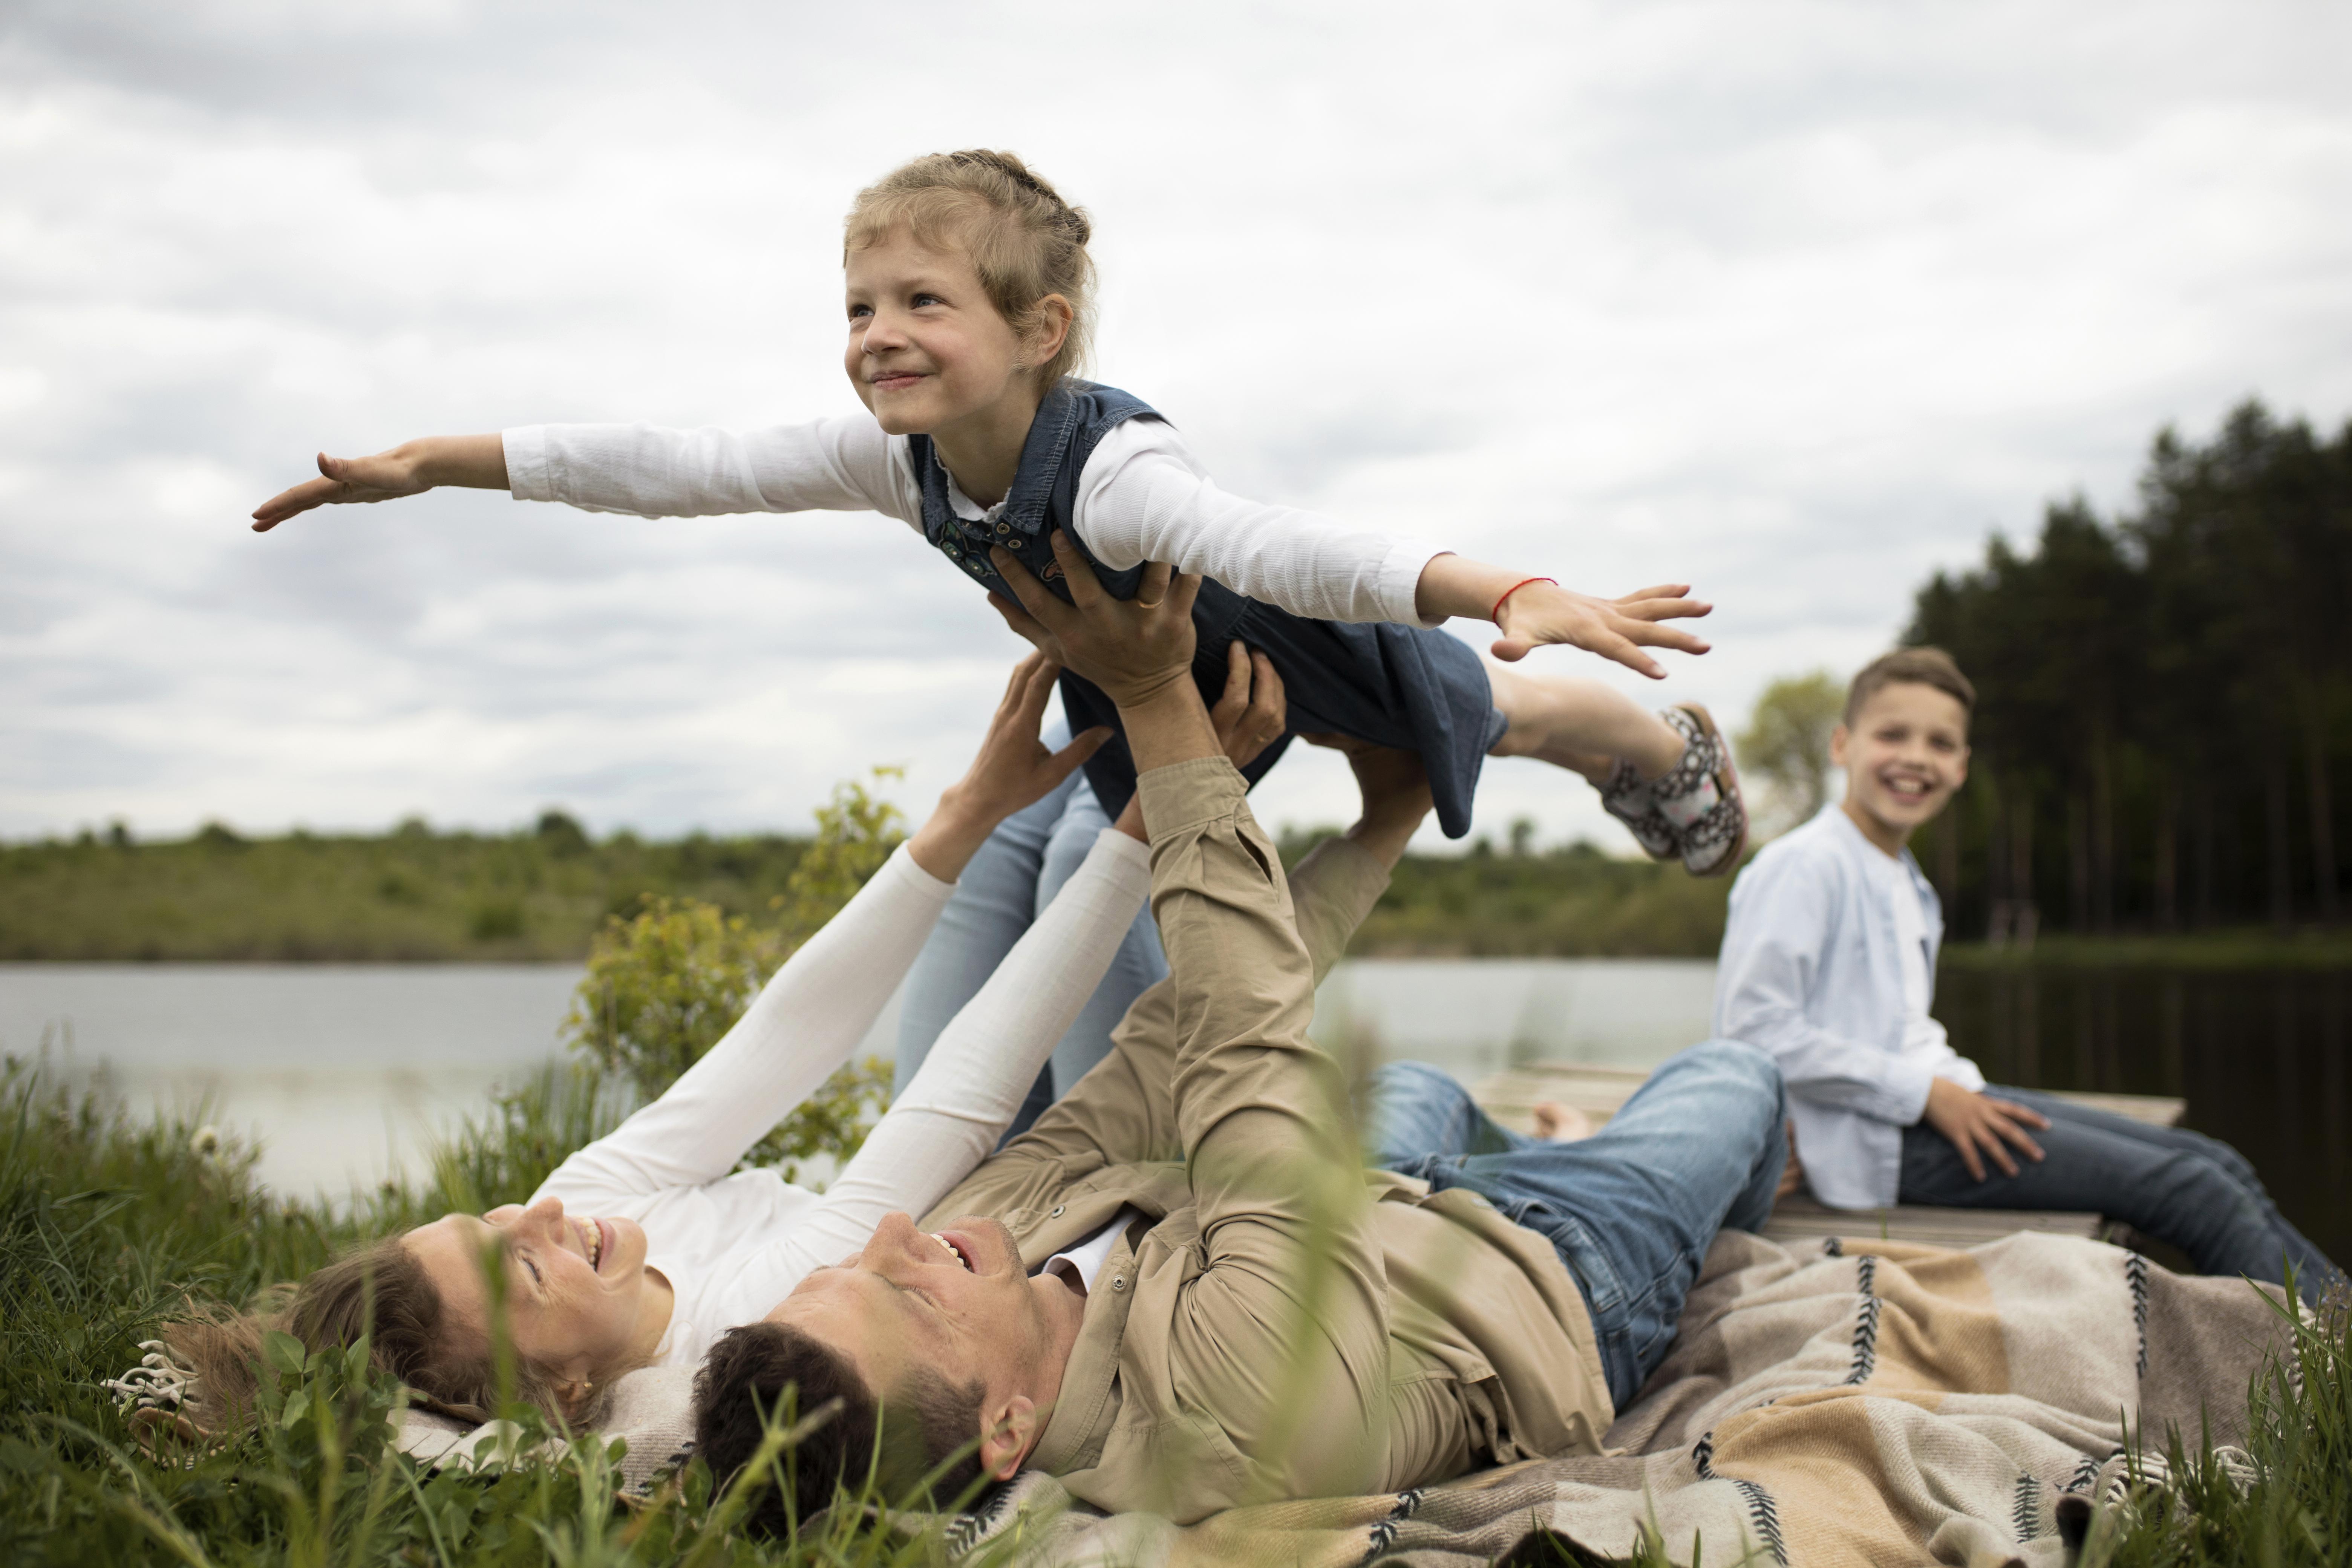
[[[1004,623],[1054,663],[1091,679],[1120,708],[1136,708],[1174,682],[1192,679],[1197,576],[1171,574],[1152,562],[1143,569],[1134,599],[1112,599],[1087,557],[1054,529],[1054,559],[1061,562],[1073,599],[1063,604],[1011,550],[990,545],[988,559],[1021,599],[1014,607],[1002,595],[988,595]]]

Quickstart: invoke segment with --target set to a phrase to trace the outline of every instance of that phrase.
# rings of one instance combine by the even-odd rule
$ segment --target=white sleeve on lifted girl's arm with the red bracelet
[[[1087,458],[1077,536],[1112,569],[1167,562],[1310,621],[1439,625],[1414,609],[1437,545],[1216,487],[1157,418],[1115,425]]]

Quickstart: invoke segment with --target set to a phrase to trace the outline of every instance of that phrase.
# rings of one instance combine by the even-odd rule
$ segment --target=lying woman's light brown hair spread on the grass
[[[198,1375],[200,1396],[183,1413],[202,1432],[223,1434],[252,1418],[261,1335],[280,1328],[306,1349],[348,1347],[367,1335],[367,1359],[400,1378],[423,1403],[461,1420],[489,1420],[499,1408],[499,1371],[489,1347],[454,1349],[442,1293],[400,1237],[367,1241],[299,1286],[278,1286],[252,1312],[200,1309],[167,1324],[172,1359]],[[515,1356],[513,1396],[555,1420],[564,1410],[550,1380]]]

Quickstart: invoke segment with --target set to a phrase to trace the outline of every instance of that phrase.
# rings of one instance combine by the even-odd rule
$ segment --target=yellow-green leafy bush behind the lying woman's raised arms
[[[875,769],[875,780],[901,778]],[[793,957],[906,837],[898,806],[863,783],[835,785],[816,809],[816,842],[793,867],[771,907],[779,926],[753,926],[699,898],[647,893],[642,907],[604,922],[588,952],[588,973],[572,997],[562,1032],[600,1074],[619,1077],[654,1100],[720,1041],[767,978]],[[889,1103],[891,1070],[882,1058],[849,1063],[802,1100],[743,1157],[743,1166],[781,1166],[830,1154],[847,1161],[866,1143],[870,1117]]]

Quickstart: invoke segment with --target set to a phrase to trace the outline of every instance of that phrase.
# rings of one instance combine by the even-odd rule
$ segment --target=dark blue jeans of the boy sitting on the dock
[[[2051,1119],[2032,1133],[2044,1159],[2013,1152],[2016,1175],[1985,1161],[1985,1180],[1969,1175],[1959,1150],[1926,1121],[1903,1128],[1903,1204],[1950,1208],[2077,1208],[2124,1220],[2178,1246],[2199,1274],[2244,1274],[2281,1284],[2281,1262],[2296,1265],[2296,1288],[2317,1302],[2343,1279],[2326,1253],[2286,1222],[2246,1157],[2218,1138],[2178,1126],[2147,1126],[2131,1117],[2034,1093],[1985,1088]],[[1802,1154],[1802,1150],[1799,1150]]]

